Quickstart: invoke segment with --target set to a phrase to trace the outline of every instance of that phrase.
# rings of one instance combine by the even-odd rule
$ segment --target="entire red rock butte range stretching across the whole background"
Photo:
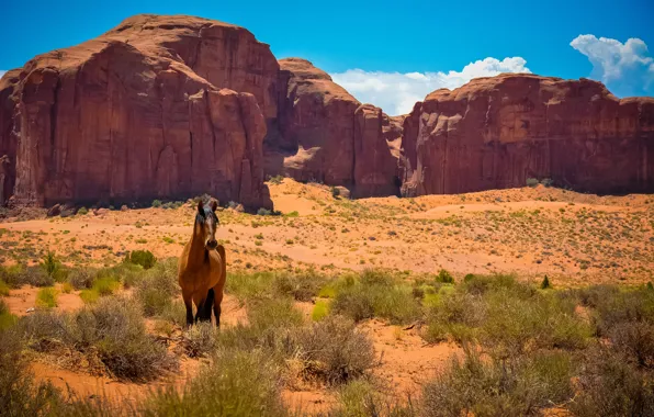
[[[460,193],[552,179],[654,191],[654,99],[533,75],[437,90],[407,116],[362,104],[328,74],[247,30],[137,15],[0,80],[0,203],[211,193],[272,205],[267,174],[353,196]]]

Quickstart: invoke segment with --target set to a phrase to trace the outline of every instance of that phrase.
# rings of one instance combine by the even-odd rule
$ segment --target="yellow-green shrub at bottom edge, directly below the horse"
[[[255,350],[223,351],[179,392],[172,386],[150,395],[144,416],[285,416],[280,368]]]

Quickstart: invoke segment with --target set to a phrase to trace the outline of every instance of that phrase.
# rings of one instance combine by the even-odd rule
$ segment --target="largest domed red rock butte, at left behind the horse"
[[[40,55],[0,81],[0,196],[52,205],[208,192],[271,207],[262,142],[278,72],[245,29],[188,16],[138,15]]]

